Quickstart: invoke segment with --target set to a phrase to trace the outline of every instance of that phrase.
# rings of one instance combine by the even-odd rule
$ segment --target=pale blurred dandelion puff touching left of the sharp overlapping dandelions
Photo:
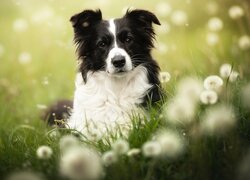
[[[203,87],[201,80],[193,77],[186,77],[178,83],[177,94],[195,102],[199,100],[202,89]]]

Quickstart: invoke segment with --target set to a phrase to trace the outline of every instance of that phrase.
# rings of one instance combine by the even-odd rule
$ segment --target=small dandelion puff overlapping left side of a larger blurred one
[[[157,141],[148,141],[142,146],[142,153],[145,157],[156,157],[161,154],[161,145]]]

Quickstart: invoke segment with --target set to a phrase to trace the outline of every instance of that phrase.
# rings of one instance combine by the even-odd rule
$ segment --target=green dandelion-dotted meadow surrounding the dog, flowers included
[[[41,114],[73,99],[69,19],[97,8],[105,19],[156,14],[167,96],[131,117],[128,135],[86,139]],[[250,179],[250,2],[1,0],[0,179]]]

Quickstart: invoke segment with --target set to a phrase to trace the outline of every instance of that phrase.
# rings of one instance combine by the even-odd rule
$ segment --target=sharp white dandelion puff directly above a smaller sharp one
[[[207,90],[219,91],[223,85],[223,80],[217,75],[208,76],[204,80],[204,88]]]

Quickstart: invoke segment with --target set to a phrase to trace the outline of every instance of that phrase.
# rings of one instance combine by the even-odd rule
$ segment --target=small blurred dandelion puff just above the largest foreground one
[[[78,146],[79,141],[73,135],[65,135],[60,139],[59,145],[61,150],[67,150],[69,148]]]

